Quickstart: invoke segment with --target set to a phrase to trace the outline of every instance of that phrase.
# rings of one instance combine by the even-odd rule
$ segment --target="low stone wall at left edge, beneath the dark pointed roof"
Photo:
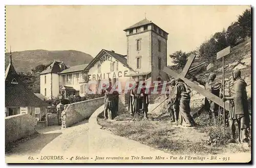
[[[5,144],[34,134],[37,119],[29,114],[17,114],[5,117]]]

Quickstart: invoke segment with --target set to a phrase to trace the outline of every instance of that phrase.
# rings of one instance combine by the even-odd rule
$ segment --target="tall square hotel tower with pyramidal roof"
[[[127,64],[138,73],[151,72],[152,81],[167,80],[168,33],[146,18],[124,30],[127,37]]]

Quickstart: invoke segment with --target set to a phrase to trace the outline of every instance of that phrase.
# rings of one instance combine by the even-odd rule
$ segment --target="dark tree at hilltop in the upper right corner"
[[[251,11],[246,9],[238,16],[238,23],[242,27],[244,35],[251,37]]]

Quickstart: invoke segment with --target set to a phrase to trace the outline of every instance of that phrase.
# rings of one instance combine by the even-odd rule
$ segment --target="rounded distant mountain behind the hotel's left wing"
[[[5,53],[5,69],[9,64],[10,53]],[[17,72],[31,71],[37,65],[47,65],[54,61],[63,61],[68,67],[80,64],[87,64],[92,61],[90,54],[75,51],[47,51],[47,50],[28,50],[12,52],[12,62]]]

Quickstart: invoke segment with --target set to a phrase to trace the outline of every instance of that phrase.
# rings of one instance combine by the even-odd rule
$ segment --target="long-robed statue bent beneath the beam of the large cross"
[[[172,102],[179,104],[179,124],[186,127],[195,127],[196,123],[190,115],[190,89],[183,80],[177,79],[174,87]]]

